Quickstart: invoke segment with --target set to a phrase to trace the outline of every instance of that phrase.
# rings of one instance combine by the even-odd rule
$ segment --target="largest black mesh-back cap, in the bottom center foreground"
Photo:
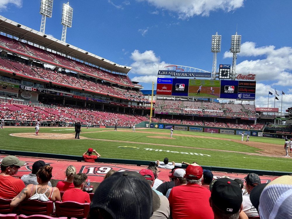
[[[90,208],[102,208],[113,219],[149,219],[160,207],[159,196],[135,171],[116,172],[96,189]]]

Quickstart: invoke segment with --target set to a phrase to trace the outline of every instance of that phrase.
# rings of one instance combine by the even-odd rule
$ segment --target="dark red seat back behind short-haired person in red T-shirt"
[[[89,212],[89,203],[79,203],[76,201],[56,201],[55,213],[57,217],[86,218]]]

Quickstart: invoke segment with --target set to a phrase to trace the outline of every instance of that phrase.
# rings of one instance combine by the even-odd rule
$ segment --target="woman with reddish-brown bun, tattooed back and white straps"
[[[52,166],[43,166],[36,173],[38,185],[27,185],[17,196],[15,196],[10,206],[16,207],[25,199],[39,201],[61,201],[60,191],[57,187],[48,186],[48,181],[52,178]]]

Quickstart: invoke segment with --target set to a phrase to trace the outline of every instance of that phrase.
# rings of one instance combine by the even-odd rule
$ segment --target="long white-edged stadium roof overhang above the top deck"
[[[8,20],[1,15],[0,31],[11,34],[13,36],[17,36],[20,39],[25,39],[41,46],[53,49],[66,55],[73,56],[80,60],[90,62],[94,65],[108,69],[109,71],[127,74],[131,70],[131,67],[119,65],[112,61],[106,60],[98,55],[89,53],[76,46],[72,46],[70,44],[67,44],[66,42],[55,39],[54,37],[48,36],[46,34],[44,35],[43,33],[38,32],[34,29],[20,25],[12,20]]]

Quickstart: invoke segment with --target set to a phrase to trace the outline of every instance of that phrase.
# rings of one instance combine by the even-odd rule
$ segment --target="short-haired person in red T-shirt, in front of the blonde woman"
[[[90,197],[87,192],[83,192],[87,175],[85,173],[77,173],[74,177],[74,188],[64,192],[62,201],[77,201],[79,203],[90,203]]]

